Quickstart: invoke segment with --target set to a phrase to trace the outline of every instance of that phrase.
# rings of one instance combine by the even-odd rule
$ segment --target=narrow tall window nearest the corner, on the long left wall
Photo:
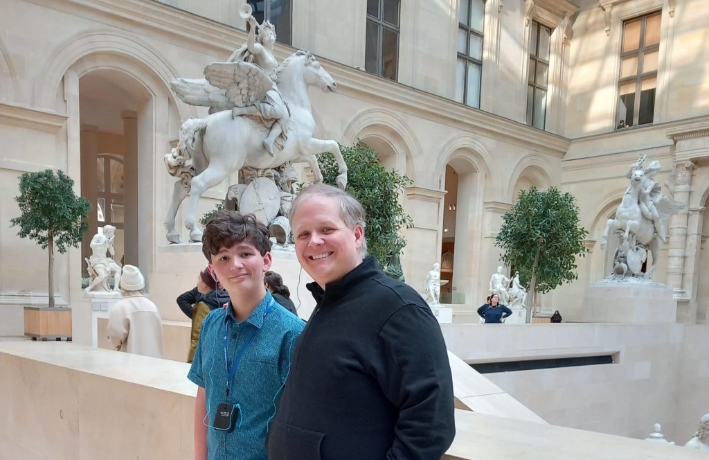
[[[544,129],[547,119],[547,84],[552,29],[532,21],[530,64],[527,71],[527,124]]]

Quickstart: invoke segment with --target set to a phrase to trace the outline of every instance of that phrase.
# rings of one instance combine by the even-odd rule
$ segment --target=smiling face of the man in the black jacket
[[[321,288],[362,262],[364,229],[347,228],[341,214],[337,198],[313,195],[298,204],[293,217],[298,262]]]

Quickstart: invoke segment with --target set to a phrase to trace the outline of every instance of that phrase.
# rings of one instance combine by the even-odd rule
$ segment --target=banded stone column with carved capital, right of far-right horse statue
[[[674,168],[674,199],[689,205],[689,192],[692,182],[692,170],[696,165],[689,160],[676,161]],[[684,262],[686,257],[687,208],[674,214],[669,221],[669,263],[667,265],[667,284],[674,290],[676,299],[685,299],[687,291],[684,285]]]

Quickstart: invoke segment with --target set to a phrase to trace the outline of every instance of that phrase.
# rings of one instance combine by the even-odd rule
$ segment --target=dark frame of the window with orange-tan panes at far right
[[[659,16],[660,18],[660,23],[659,23],[659,36],[660,40],[655,43],[654,45],[650,46],[645,46],[645,32],[646,32],[646,25],[647,25],[647,18],[649,16]],[[637,19],[640,19],[640,44],[638,45],[638,48],[632,51],[626,51],[623,53],[623,43],[625,43],[625,24],[629,23],[631,21],[636,21]],[[638,16],[633,16],[632,18],[627,18],[623,19],[620,21],[620,53],[618,53],[618,79],[616,81],[616,92],[617,92],[617,97],[615,101],[615,131],[620,131],[622,129],[625,129],[623,127],[618,127],[618,123],[620,122],[620,87],[623,84],[627,84],[628,82],[633,82],[635,81],[635,93],[634,94],[634,100],[633,100],[633,106],[632,106],[632,124],[629,124],[627,127],[636,127],[636,126],[648,126],[651,124],[654,124],[654,113],[652,115],[652,121],[649,123],[644,123],[640,124],[640,99],[641,99],[641,94],[642,94],[642,80],[645,80],[649,77],[655,77],[655,94],[654,94],[654,102],[653,102],[653,112],[654,112],[654,105],[657,103],[657,91],[659,87],[659,52],[660,52],[660,43],[661,43],[661,33],[662,33],[662,10],[654,10],[654,11],[649,11],[647,13],[642,13]],[[620,77],[621,73],[623,72],[623,60],[626,59],[627,57],[633,57],[637,56],[637,69],[642,70],[644,67],[644,57],[647,53],[652,53],[652,52],[657,52],[658,55],[658,62],[657,62],[657,69],[653,70],[652,72],[637,72],[635,75],[631,75],[630,77]],[[636,121],[637,120],[637,121]],[[623,119],[625,123],[627,124],[627,120]]]

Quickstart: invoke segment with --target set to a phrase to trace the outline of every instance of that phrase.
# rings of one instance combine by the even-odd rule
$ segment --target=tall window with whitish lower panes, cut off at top
[[[485,0],[460,0],[455,100],[476,108],[480,107],[484,20]]]

